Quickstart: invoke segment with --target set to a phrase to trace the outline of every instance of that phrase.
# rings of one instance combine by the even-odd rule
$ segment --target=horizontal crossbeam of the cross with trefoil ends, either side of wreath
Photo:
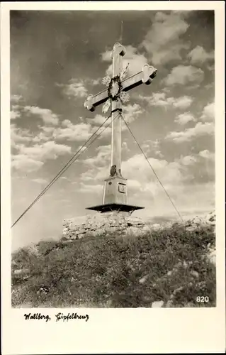
[[[142,83],[145,83],[147,85],[150,84],[156,74],[157,69],[148,64],[145,64],[141,72],[137,72],[137,74],[131,75],[130,77],[122,81],[123,91],[127,92],[133,87],[137,87]],[[86,99],[86,102],[84,103],[84,107],[86,107],[86,109],[89,109],[89,111],[94,111],[95,107],[104,104],[107,99],[108,89],[105,89],[96,95],[89,95],[89,97],[87,97]]]

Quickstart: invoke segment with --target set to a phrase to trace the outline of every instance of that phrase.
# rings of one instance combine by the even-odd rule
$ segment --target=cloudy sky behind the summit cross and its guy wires
[[[130,129],[182,216],[214,209],[213,11],[11,11],[12,222],[105,119],[84,101],[103,89],[121,34],[128,75],[158,70],[130,91]],[[178,219],[125,126],[122,141],[129,203],[145,207],[134,216]],[[108,128],[13,227],[13,249],[101,204],[110,144]]]

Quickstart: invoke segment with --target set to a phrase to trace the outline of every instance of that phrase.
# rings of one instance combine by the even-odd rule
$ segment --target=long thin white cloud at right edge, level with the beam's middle
[[[185,129],[184,131],[170,132],[169,134],[167,134],[166,139],[174,141],[175,143],[181,143],[181,142],[191,141],[191,139],[196,137],[209,135],[213,133],[214,133],[213,124],[211,123],[203,124],[202,122],[198,122],[196,126],[189,129]]]

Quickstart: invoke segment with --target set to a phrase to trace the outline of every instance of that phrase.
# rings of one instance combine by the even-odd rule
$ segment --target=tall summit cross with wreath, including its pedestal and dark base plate
[[[107,89],[96,95],[89,95],[84,107],[94,111],[96,107],[103,105],[103,113],[111,107],[111,170],[110,177],[105,180],[103,189],[103,204],[89,207],[99,212],[120,210],[131,212],[142,207],[128,204],[126,179],[121,173],[121,116],[122,102],[128,100],[128,91],[140,84],[151,84],[157,74],[157,69],[145,64],[140,72],[125,78],[126,69],[123,70],[123,56],[125,48],[120,43],[115,43],[111,52],[112,77],[104,78]]]

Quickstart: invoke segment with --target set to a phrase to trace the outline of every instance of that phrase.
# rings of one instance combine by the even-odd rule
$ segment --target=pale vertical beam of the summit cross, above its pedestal
[[[113,60],[112,65],[112,77],[120,75],[123,69],[123,55],[125,55],[125,48],[120,43],[115,43],[111,58]],[[117,82],[113,83],[113,89],[118,91],[116,87]],[[120,99],[115,99],[112,102],[112,126],[111,126],[111,166],[116,165],[116,175],[121,175],[121,146],[122,146],[122,129],[121,129],[121,117],[120,111],[122,104]]]

